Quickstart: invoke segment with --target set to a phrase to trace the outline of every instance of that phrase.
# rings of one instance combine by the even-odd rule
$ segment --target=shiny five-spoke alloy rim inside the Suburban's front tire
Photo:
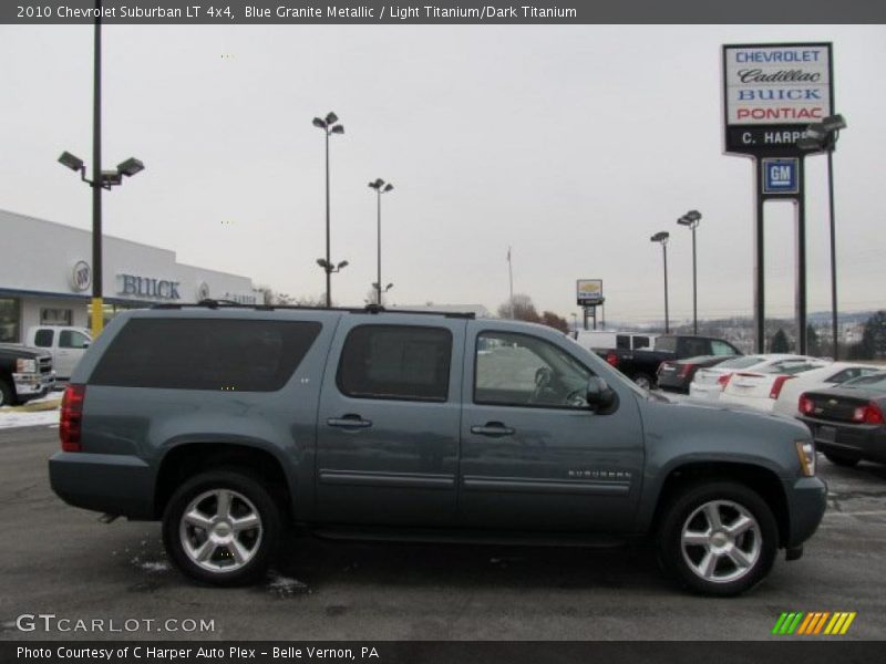
[[[683,522],[683,560],[699,578],[729,583],[754,568],[763,544],[760,523],[738,502],[711,500]]]

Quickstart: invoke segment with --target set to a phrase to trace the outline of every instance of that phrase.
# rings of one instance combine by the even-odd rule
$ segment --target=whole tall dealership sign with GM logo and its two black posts
[[[797,352],[806,352],[806,220],[803,157],[796,142],[833,113],[830,43],[723,46],[724,153],[754,159],[754,328],[765,351],[763,212],[766,200],[795,208]]]

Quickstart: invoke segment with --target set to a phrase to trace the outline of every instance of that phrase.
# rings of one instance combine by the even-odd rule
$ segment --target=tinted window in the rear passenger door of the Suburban
[[[337,382],[357,398],[444,402],[451,357],[443,328],[360,325],[344,340]]]

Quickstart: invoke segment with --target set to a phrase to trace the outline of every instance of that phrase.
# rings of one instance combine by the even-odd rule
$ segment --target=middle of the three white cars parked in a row
[[[739,404],[756,411],[772,412],[784,385],[797,375],[833,364],[828,360],[799,355],[769,366],[733,373],[720,394],[720,403]]]

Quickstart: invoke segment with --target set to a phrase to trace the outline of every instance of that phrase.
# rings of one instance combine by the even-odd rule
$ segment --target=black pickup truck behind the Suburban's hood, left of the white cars
[[[699,355],[741,355],[742,352],[722,339],[668,334],[656,338],[651,351],[608,349],[597,354],[640,387],[651,390],[662,362]]]

